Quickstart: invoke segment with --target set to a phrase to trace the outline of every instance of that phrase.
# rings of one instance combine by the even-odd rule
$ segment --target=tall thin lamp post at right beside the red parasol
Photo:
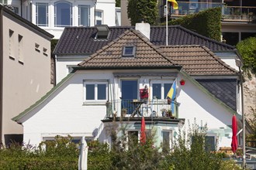
[[[241,72],[241,67],[243,63],[240,59],[236,59],[236,65],[239,68],[240,75],[240,87],[241,87],[241,107],[242,107],[242,124],[243,124],[243,169],[245,169],[246,160],[245,160],[245,117],[244,117],[244,90],[243,90],[243,74]]]

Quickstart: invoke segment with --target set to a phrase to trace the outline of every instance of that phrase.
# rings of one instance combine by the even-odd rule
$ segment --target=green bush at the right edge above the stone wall
[[[238,42],[237,49],[244,60],[243,69],[256,74],[256,37]]]

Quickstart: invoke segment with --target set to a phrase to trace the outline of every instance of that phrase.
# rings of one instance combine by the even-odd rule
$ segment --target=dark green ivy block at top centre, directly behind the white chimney
[[[158,15],[157,10],[157,0],[128,0],[127,13],[132,26],[141,22],[141,20],[150,25],[155,25]]]

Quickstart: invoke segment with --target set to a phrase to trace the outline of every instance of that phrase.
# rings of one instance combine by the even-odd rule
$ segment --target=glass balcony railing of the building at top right
[[[171,8],[168,15],[171,17],[181,17],[184,15],[195,14],[208,8],[222,7],[222,15],[224,19],[249,20],[256,19],[256,7],[252,6],[227,6],[220,2],[178,2],[178,9]],[[165,8],[161,6],[161,17],[165,17]]]

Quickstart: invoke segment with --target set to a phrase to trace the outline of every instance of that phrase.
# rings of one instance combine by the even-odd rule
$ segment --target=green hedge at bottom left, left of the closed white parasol
[[[78,148],[71,137],[57,136],[39,148],[14,143],[0,149],[0,158],[0,169],[78,169]]]

